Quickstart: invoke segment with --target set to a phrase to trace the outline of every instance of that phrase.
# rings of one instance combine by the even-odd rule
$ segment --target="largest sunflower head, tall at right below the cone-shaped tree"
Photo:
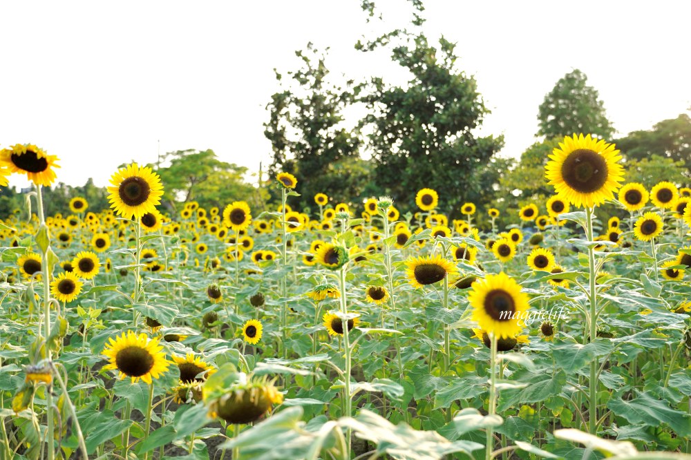
[[[624,170],[614,144],[574,134],[554,148],[545,177],[558,195],[576,207],[595,207],[614,198]]]

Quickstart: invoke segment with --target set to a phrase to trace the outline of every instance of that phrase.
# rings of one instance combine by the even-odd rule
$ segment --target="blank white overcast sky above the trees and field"
[[[272,69],[299,66],[307,41],[330,46],[334,75],[400,81],[359,0],[0,0],[0,147],[33,143],[60,158],[58,180],[106,185],[117,165],[160,151],[212,148],[253,171],[270,162],[265,105]],[[405,0],[378,0],[405,26]],[[527,6],[530,5],[530,6]],[[535,142],[538,106],[580,68],[619,133],[649,129],[691,106],[691,2],[426,1],[426,33],[457,41],[493,112],[483,134],[502,155]],[[385,12],[388,10],[384,10]],[[386,17],[385,17],[386,19]],[[23,186],[15,178],[10,184]]]

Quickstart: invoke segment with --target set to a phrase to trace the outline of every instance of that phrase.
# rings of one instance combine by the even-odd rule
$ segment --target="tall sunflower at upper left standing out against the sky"
[[[108,186],[108,201],[111,208],[128,219],[139,219],[146,213],[155,211],[163,196],[161,178],[149,166],[136,163],[119,169]]]

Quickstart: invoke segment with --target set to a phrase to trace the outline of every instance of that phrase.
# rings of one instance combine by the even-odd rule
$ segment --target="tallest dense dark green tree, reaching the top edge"
[[[361,125],[370,131],[368,148],[377,184],[399,207],[413,209],[415,193],[424,187],[439,192],[440,209],[455,209],[483,188],[477,172],[503,146],[503,137],[476,137],[473,129],[489,113],[477,84],[456,67],[455,44],[441,37],[428,43],[420,26],[422,4],[413,1],[414,32],[394,30],[356,48],[384,46],[411,75],[404,86],[379,77],[362,87],[368,108]],[[372,3],[363,3],[372,16]]]

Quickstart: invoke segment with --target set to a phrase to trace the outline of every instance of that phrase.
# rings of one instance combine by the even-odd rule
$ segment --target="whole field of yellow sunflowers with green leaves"
[[[138,164],[44,215],[59,159],[4,148],[0,460],[690,458],[691,189],[621,160],[565,137],[499,227],[290,173],[171,212]]]

